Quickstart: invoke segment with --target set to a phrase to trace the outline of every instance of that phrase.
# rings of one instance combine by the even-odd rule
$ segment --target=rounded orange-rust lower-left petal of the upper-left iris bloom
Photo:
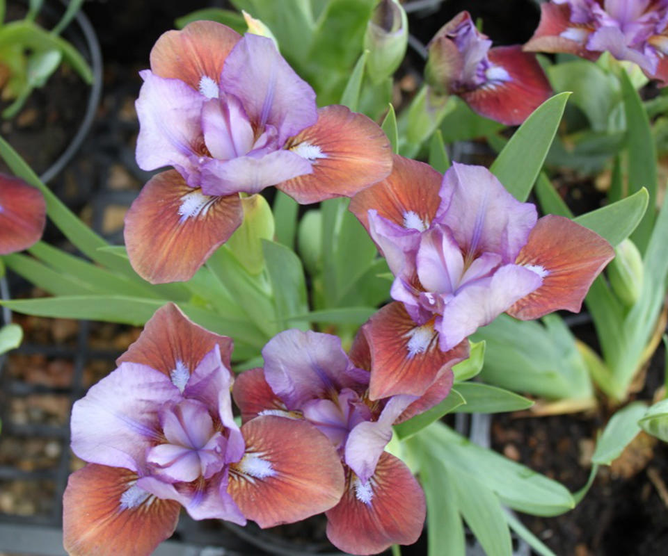
[[[125,215],[132,268],[151,284],[189,280],[243,219],[238,195],[209,197],[178,172],[161,172]]]

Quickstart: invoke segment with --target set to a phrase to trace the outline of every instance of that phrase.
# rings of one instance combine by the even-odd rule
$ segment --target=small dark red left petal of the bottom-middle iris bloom
[[[261,368],[248,369],[237,376],[232,387],[232,397],[241,411],[242,423],[258,415],[290,415],[285,404],[267,384]]]

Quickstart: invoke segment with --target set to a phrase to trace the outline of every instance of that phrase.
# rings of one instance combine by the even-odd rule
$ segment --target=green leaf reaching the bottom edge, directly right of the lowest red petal
[[[427,498],[427,555],[466,556],[452,474],[429,452],[420,460],[420,482]]]

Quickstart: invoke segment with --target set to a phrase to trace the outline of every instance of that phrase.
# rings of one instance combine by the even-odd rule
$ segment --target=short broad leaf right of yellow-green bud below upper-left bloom
[[[299,257],[294,252],[273,241],[262,240],[262,251],[267,261],[267,272],[273,290],[276,316],[280,321],[308,311],[306,282]],[[294,322],[294,321],[293,321]],[[285,322],[281,322],[285,328]],[[304,322],[301,326],[308,329]]]

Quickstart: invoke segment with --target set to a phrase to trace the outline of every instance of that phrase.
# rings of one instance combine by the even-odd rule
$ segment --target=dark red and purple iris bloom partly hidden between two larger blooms
[[[379,553],[391,544],[417,540],[424,523],[424,493],[401,460],[384,451],[392,425],[426,411],[452,387],[452,364],[421,398],[369,398],[368,325],[358,333],[350,356],[336,336],[287,330],[262,350],[264,369],[242,373],[234,401],[244,423],[287,415],[311,423],[331,441],[346,468],[346,489],[326,512],[327,536],[353,554]]]

